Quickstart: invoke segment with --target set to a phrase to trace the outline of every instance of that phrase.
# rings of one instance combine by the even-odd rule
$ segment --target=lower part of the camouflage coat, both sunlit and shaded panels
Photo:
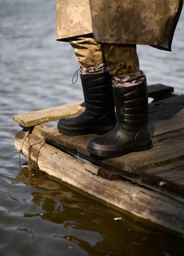
[[[171,51],[183,0],[57,0],[56,38],[93,33],[97,42]]]

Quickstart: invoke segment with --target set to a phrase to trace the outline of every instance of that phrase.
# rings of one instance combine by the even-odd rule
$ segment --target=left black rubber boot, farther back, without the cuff
[[[61,118],[59,132],[68,135],[109,132],[116,124],[110,74],[81,74],[81,82],[85,111],[77,117]]]

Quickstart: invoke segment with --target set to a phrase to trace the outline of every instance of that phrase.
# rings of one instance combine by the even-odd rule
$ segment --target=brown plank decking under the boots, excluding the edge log
[[[37,136],[45,136],[50,143],[54,142],[74,154],[79,152],[83,157],[86,156],[87,159],[94,161],[99,166],[116,170],[132,180],[139,179],[137,182],[144,186],[184,201],[182,199],[182,167],[176,168],[174,174],[169,171],[170,164],[184,158],[183,129],[184,110],[181,109],[180,105],[177,107],[175,105],[167,110],[153,112],[150,114],[150,130],[154,137],[154,148],[144,152],[132,152],[122,157],[104,161],[89,158],[90,154],[86,149],[89,139],[94,138],[96,135],[67,136],[59,133],[56,127],[46,126],[35,126],[33,133]],[[159,175],[157,168],[160,170]],[[165,170],[163,176],[161,170]],[[162,179],[163,181],[166,179],[166,186],[161,188],[159,182]]]

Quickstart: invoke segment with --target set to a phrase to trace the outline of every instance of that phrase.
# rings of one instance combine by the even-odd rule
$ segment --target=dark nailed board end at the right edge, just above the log
[[[152,168],[141,173],[144,184],[184,195],[184,160]]]

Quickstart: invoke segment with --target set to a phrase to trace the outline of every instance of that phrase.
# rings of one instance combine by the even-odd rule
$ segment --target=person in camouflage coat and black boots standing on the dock
[[[171,51],[182,6],[183,0],[57,0],[56,39],[75,51],[85,101],[84,113],[58,121],[59,132],[103,134],[87,145],[100,157],[153,146],[137,44]]]

